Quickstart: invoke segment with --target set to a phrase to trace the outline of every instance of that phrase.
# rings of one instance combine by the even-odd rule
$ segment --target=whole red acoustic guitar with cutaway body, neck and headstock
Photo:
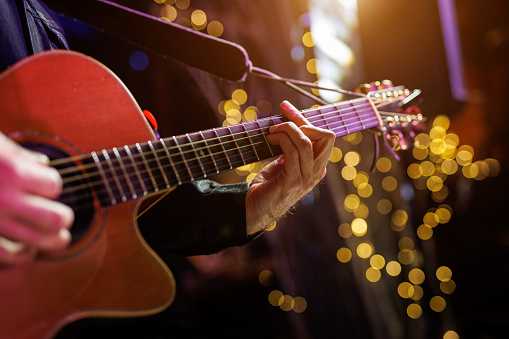
[[[408,134],[423,121],[418,112],[402,112],[414,95],[388,88],[303,114],[336,136],[373,128]],[[382,106],[396,111],[381,112]],[[280,154],[265,136],[284,121],[274,116],[156,139],[122,82],[70,51],[36,54],[4,71],[0,112],[3,133],[50,157],[64,180],[59,200],[76,214],[67,250],[0,268],[0,338],[9,339],[52,338],[80,318],[143,316],[168,307],[175,281],[140,235],[141,203]]]

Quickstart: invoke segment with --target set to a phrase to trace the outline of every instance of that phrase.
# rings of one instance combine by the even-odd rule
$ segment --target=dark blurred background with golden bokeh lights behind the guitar
[[[189,258],[160,253],[177,279],[174,305],[123,322],[115,333],[507,337],[507,1],[116,2],[235,42],[254,66],[283,77],[348,90],[384,79],[421,89],[427,121],[414,147],[398,151],[399,161],[384,148],[375,159],[373,133],[338,138],[323,182],[245,247]],[[249,74],[227,81],[61,19],[73,49],[119,75],[156,116],[162,137],[279,114],[286,99],[300,109],[317,103],[272,80]],[[312,93],[327,102],[350,99]],[[214,179],[250,181],[265,164]],[[99,323],[99,333],[109,337],[109,325]]]

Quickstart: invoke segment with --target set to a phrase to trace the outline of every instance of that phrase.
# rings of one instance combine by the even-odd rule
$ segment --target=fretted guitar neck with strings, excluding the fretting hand
[[[336,137],[381,125],[376,108],[365,97],[302,114],[313,126],[331,130]],[[92,152],[81,161],[101,204],[116,205],[280,155],[281,149],[266,136],[271,126],[285,121],[284,116],[273,116]]]

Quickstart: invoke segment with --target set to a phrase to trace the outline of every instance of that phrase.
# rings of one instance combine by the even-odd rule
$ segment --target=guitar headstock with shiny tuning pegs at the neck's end
[[[384,80],[363,84],[357,91],[372,99],[382,119],[380,129],[393,149],[410,148],[416,131],[426,128],[426,118],[417,106],[422,101],[420,90],[394,86],[392,81]]]

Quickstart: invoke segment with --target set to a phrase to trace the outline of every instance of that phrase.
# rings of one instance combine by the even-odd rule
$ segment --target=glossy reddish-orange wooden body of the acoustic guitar
[[[120,80],[75,52],[37,54],[0,75],[0,130],[68,155],[154,139]],[[0,338],[51,338],[90,316],[142,316],[171,304],[175,281],[136,224],[141,201],[101,207],[68,250],[0,268]],[[80,216],[81,217],[81,216]]]

